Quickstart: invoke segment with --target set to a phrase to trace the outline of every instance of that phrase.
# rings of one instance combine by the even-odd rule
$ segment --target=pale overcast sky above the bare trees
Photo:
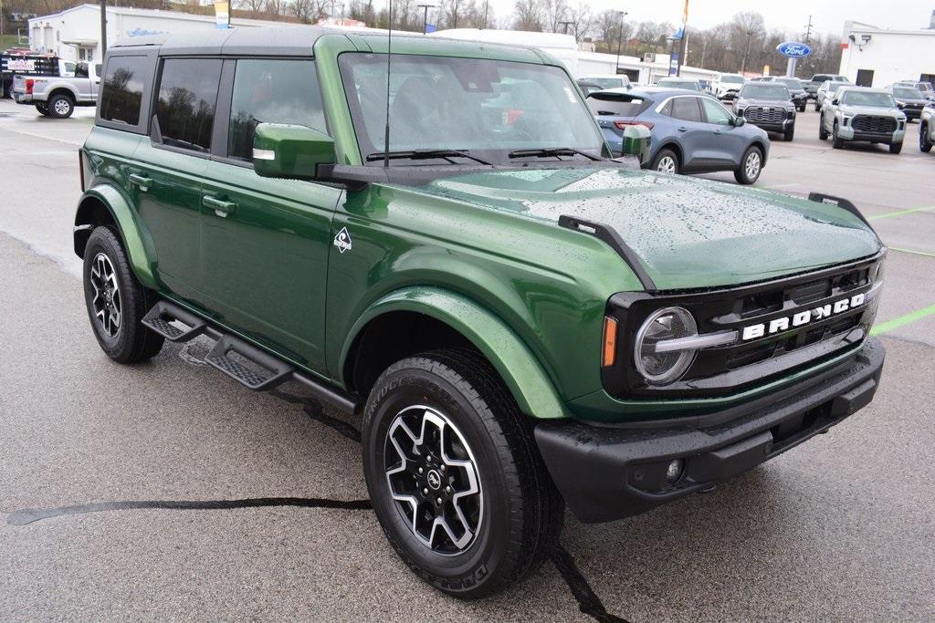
[[[422,1],[422,0],[420,0]],[[432,4],[431,0],[425,0]],[[481,0],[482,1],[482,0]],[[497,20],[512,13],[513,0],[489,0]],[[627,20],[682,20],[683,0],[585,0],[593,11],[625,10]],[[568,0],[576,6],[578,0]],[[740,10],[761,13],[768,29],[804,32],[811,14],[822,34],[840,35],[845,20],[864,21],[883,28],[917,29],[928,26],[935,0],[689,0],[688,24],[700,28],[730,20]]]

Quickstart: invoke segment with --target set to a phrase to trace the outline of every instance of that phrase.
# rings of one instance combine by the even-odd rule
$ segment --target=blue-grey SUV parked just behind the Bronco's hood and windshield
[[[588,106],[611,146],[620,153],[628,125],[650,129],[644,167],[664,173],[733,171],[741,184],[759,178],[770,155],[770,137],[745,125],[713,97],[682,89],[611,89],[591,93]]]

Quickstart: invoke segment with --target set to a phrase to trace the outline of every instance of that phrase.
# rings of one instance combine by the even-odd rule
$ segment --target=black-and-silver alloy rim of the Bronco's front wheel
[[[390,494],[416,539],[442,556],[468,549],[483,521],[481,478],[452,420],[407,407],[390,423],[383,454]]]

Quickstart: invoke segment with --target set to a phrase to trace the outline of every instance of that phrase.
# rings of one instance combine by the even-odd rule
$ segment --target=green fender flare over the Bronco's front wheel
[[[440,288],[418,286],[395,290],[367,307],[341,348],[338,364],[341,375],[360,332],[371,320],[394,311],[424,314],[464,335],[491,362],[525,414],[534,418],[569,417],[568,408],[549,376],[516,333],[480,304]],[[346,379],[341,381],[344,383]]]

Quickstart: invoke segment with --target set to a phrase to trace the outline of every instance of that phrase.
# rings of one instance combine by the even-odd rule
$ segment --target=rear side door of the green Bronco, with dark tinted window
[[[156,270],[170,290],[207,306],[202,288],[201,184],[211,148],[220,59],[164,59],[156,82],[150,140],[130,182],[149,229]]]

